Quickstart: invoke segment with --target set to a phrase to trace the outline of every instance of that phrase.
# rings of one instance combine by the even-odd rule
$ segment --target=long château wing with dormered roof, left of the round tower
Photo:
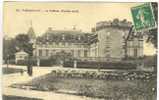
[[[89,57],[89,37],[90,33],[69,30],[52,30],[48,31],[36,40],[35,56],[47,58],[60,52],[69,53],[72,57]]]

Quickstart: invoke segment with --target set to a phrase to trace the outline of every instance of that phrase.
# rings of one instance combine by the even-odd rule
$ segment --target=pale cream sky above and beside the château
[[[9,37],[26,33],[30,26],[36,35],[43,34],[48,27],[55,30],[76,29],[91,32],[99,21],[114,18],[132,22],[130,8],[142,3],[59,3],[59,2],[5,2],[3,32]],[[67,12],[66,12],[67,11]],[[69,11],[69,12],[68,12]],[[152,55],[155,49],[144,43],[144,54]]]

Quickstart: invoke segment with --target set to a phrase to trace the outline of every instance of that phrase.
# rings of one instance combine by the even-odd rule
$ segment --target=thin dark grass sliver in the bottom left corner
[[[11,95],[3,95],[3,100],[42,100],[37,98],[27,98],[27,97],[19,97],[19,96],[11,96]]]

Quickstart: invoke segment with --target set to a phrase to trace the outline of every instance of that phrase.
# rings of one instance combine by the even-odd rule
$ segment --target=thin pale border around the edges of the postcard
[[[159,1],[158,0],[0,0],[0,65],[2,68],[2,37],[3,37],[3,2],[4,1],[25,1],[25,2],[158,2],[158,8],[159,8]],[[159,15],[159,13],[158,13]],[[159,26],[158,26],[159,28]],[[159,35],[158,35],[159,38]],[[158,41],[158,47],[159,47],[159,41]],[[158,49],[158,48],[157,48]],[[156,51],[158,55],[158,50]],[[159,58],[157,56],[157,65],[159,64]],[[0,68],[0,96],[2,96],[2,69]],[[157,87],[159,85],[159,73],[157,68]],[[159,88],[157,88],[157,100],[159,100]],[[0,98],[2,100],[2,98]]]

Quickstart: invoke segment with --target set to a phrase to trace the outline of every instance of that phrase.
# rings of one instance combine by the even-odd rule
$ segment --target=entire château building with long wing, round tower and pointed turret
[[[28,31],[34,40],[34,56],[43,59],[67,53],[81,60],[121,60],[143,57],[143,37],[136,33],[126,20],[101,21],[91,33],[80,30],[53,30],[35,38],[31,27]]]

